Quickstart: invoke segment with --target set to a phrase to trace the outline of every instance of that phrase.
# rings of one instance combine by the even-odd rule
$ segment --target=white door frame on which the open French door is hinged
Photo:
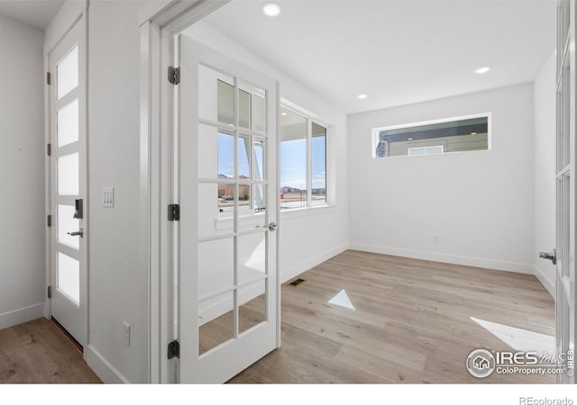
[[[142,268],[149,275],[149,381],[176,383],[179,362],[169,361],[168,344],[177,338],[173,311],[174,87],[167,80],[174,61],[174,35],[230,0],[166,1],[141,9],[141,217]],[[277,89],[279,105],[279,89]],[[277,124],[279,133],[279,124]],[[278,160],[278,159],[277,159]],[[278,165],[278,164],[277,164]],[[277,174],[278,176],[279,174]],[[277,213],[277,217],[279,217]],[[279,247],[279,231],[277,247]],[[279,280],[279,255],[277,255]],[[280,346],[280,286],[277,283],[277,347]]]

